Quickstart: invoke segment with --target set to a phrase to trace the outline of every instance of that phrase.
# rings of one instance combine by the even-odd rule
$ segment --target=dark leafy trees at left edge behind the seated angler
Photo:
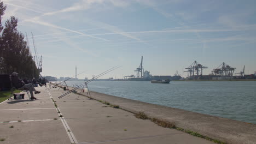
[[[0,2],[0,73],[10,74],[13,71],[21,77],[39,77],[36,63],[33,61],[24,34],[17,29],[18,19],[11,16],[2,26],[2,15],[6,6]]]

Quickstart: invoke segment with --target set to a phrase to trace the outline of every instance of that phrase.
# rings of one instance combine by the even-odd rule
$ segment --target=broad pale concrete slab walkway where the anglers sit
[[[37,100],[0,104],[1,143],[213,143],[175,129],[162,128],[132,113],[96,100],[36,88]],[[55,107],[51,98],[56,101]],[[58,113],[60,111],[60,113]],[[62,115],[63,117],[59,117]],[[57,118],[57,120],[55,120]],[[20,122],[21,121],[21,122]],[[13,126],[13,128],[11,128]]]

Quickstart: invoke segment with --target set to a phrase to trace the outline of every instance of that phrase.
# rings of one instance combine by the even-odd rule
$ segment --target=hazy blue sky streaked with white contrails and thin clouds
[[[208,67],[225,62],[239,73],[256,71],[256,1],[206,0],[2,0],[3,22],[18,17],[43,57],[43,76],[102,78],[135,74],[141,63],[152,75],[187,76],[194,61]]]

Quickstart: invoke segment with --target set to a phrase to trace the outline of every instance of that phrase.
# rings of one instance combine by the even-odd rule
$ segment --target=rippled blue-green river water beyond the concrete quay
[[[68,81],[69,86],[83,81]],[[90,91],[256,124],[256,81],[93,81]]]

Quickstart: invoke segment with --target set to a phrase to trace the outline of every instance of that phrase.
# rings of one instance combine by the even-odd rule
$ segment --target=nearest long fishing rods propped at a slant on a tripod
[[[101,76],[103,76],[103,75],[109,73],[110,71],[113,71],[113,70],[118,69],[118,68],[120,68],[120,66],[115,66],[115,67],[113,67],[113,68],[110,68],[110,69],[104,71],[103,73],[101,73],[101,74],[99,74],[99,75],[93,77],[92,79],[90,79],[90,80],[84,82],[82,85],[79,85],[78,87],[75,87],[75,88],[72,89],[71,91],[66,92],[65,94],[62,94],[62,95],[61,95],[60,97],[58,97],[58,98],[60,99],[60,98],[62,98],[62,97],[65,97],[67,94],[74,92],[75,90],[77,90],[78,88],[80,88],[80,87],[82,87],[82,86],[83,86],[83,88],[84,88],[84,86],[86,86],[86,88],[88,88],[88,85],[87,85],[87,84],[88,84],[89,82],[94,81],[94,80],[96,80],[98,77],[101,77]],[[81,91],[81,92],[82,92],[82,91]],[[90,92],[89,92],[89,93],[90,93]],[[80,95],[80,94],[79,94],[79,95]]]

